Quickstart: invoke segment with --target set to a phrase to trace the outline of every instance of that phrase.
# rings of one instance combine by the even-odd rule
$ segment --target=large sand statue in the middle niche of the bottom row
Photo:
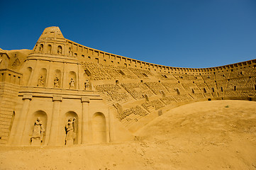
[[[65,137],[65,145],[67,145],[68,141],[74,142],[76,137],[76,118],[69,118],[67,120],[67,125],[65,125],[66,137]]]

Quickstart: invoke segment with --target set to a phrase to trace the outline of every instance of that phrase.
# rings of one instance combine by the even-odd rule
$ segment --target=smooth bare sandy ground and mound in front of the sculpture
[[[131,142],[0,147],[0,169],[256,169],[256,102],[180,106]]]

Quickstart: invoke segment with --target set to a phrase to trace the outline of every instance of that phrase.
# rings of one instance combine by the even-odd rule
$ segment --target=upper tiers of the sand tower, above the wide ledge
[[[24,86],[84,89],[84,71],[58,27],[45,28],[21,72]]]

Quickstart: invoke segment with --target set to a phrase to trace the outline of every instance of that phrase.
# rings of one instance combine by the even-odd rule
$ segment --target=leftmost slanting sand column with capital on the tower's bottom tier
[[[18,125],[16,127],[16,134],[14,134],[16,145],[21,145],[21,141],[23,140],[23,134],[24,130],[27,124],[27,119],[28,119],[28,106],[30,101],[32,100],[32,94],[23,94],[23,106],[21,108],[21,115],[20,118],[18,119]]]

